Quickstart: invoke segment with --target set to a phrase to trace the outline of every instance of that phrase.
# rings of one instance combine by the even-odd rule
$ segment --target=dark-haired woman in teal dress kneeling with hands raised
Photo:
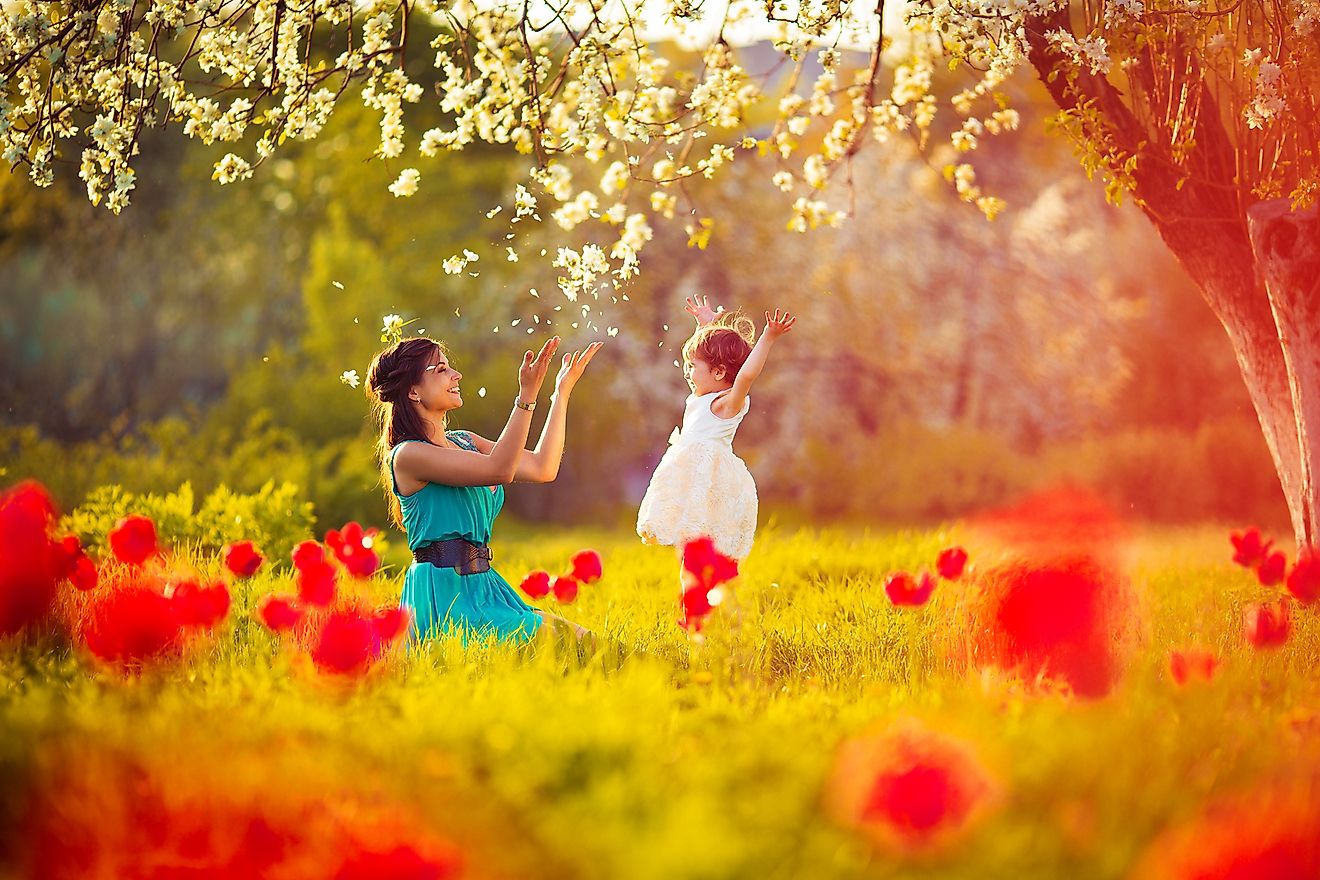
[[[560,339],[523,355],[517,398],[499,439],[449,431],[450,410],[463,405],[449,352],[433,339],[401,339],[376,355],[367,393],[380,420],[380,476],[395,524],[408,533],[413,563],[404,578],[403,604],[413,636],[455,629],[525,641],[558,621],[581,639],[586,629],[539,611],[490,567],[491,526],[504,504],[504,484],[549,483],[560,472],[564,429],[573,387],[599,342],[564,355],[550,413],[535,450],[527,446],[536,396]]]

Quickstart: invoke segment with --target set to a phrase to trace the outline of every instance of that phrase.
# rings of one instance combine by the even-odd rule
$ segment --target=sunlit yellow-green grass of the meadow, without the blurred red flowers
[[[675,624],[672,550],[620,533],[498,534],[496,567],[515,584],[579,548],[602,553],[605,579],[552,608],[601,636],[585,662],[565,645],[444,641],[335,686],[252,621],[260,595],[290,590],[269,573],[235,586],[210,643],[140,677],[50,641],[12,645],[0,654],[8,858],[24,846],[13,829],[44,803],[34,793],[70,773],[92,776],[112,825],[133,797],[98,764],[114,756],[180,797],[407,805],[463,851],[471,876],[1123,877],[1208,802],[1316,768],[1320,624],[1302,610],[1284,648],[1242,645],[1241,608],[1266,591],[1228,563],[1224,530],[1133,540],[1138,641],[1100,701],[957,669],[946,646],[972,584],[941,586],[924,608],[890,606],[886,574],[928,566],[957,540],[970,538],[763,532],[737,611],[722,608],[697,644]],[[995,561],[968,546],[974,566]],[[389,598],[397,583],[395,569],[371,590]],[[1167,652],[1192,644],[1222,666],[1177,689]],[[840,743],[900,716],[970,741],[1003,790],[970,834],[919,858],[873,850],[821,806]]]

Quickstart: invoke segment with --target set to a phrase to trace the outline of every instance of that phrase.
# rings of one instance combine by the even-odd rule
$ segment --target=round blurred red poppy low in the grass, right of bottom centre
[[[873,843],[921,851],[964,833],[995,792],[969,744],[907,720],[840,745],[825,798],[837,821]]]

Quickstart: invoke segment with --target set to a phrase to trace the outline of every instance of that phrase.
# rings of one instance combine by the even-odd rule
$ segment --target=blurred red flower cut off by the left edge
[[[67,555],[50,540],[55,505],[40,483],[25,480],[0,493],[0,636],[45,617]]]

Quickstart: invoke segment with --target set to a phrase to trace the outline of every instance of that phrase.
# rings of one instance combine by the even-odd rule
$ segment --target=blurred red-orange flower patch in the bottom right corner
[[[1133,880],[1313,880],[1320,877],[1316,780],[1220,801],[1160,834]]]

